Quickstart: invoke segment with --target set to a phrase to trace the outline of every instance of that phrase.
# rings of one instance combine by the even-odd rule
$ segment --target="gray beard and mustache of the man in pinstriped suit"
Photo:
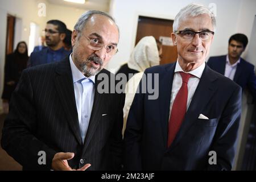
[[[88,68],[87,64],[89,64],[91,61],[97,63],[100,65],[100,67],[97,69],[96,67],[93,67],[91,64],[91,67]],[[88,59],[85,61],[85,63],[81,63],[79,66],[82,69],[82,72],[84,72],[86,77],[97,75],[98,72],[102,69],[103,61],[98,57],[96,54],[92,54],[88,57]]]

